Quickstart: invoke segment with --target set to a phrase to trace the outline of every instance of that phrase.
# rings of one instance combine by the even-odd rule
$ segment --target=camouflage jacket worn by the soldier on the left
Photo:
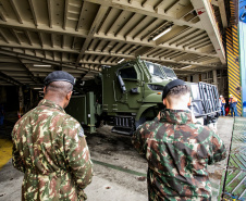
[[[93,163],[79,123],[41,100],[14,126],[13,165],[25,173],[22,200],[86,200]]]

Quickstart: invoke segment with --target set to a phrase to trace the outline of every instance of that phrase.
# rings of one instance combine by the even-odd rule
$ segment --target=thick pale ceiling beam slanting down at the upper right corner
[[[190,0],[195,8],[204,28],[206,29],[222,64],[225,64],[225,52],[222,43],[217,20],[209,0]]]

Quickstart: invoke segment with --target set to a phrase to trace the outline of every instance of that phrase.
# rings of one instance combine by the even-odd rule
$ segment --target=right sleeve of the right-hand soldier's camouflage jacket
[[[211,143],[212,143],[212,154],[209,158],[208,162],[209,165],[222,161],[226,158],[226,149],[224,147],[224,143],[220,139],[220,137],[216,135],[213,131],[211,137]]]

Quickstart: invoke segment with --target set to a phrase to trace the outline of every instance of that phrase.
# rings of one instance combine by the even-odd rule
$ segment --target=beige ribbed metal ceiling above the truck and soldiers
[[[138,55],[180,76],[224,67],[224,1],[211,3],[0,0],[0,85],[39,85],[54,70],[88,79],[101,65]]]

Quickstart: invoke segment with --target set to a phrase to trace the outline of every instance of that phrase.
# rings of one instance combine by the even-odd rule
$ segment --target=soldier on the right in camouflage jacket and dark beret
[[[169,83],[162,100],[167,108],[132,138],[148,161],[149,200],[211,200],[207,165],[225,159],[224,145],[207,126],[193,123],[189,88],[183,80]]]

